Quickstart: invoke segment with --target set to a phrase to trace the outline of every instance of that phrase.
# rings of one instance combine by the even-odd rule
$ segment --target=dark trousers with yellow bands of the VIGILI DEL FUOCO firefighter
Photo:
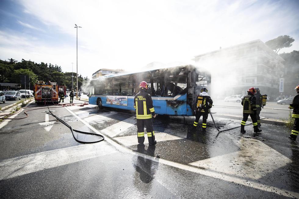
[[[153,128],[152,119],[137,119],[137,138],[138,143],[144,142],[144,125],[146,126],[147,138],[149,139],[149,145],[155,142],[155,132]]]

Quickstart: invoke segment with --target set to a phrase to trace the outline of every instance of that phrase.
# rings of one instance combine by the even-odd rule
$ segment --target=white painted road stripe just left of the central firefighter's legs
[[[132,116],[128,119],[125,119],[121,122],[118,122],[116,124],[113,124],[106,129],[101,130],[101,133],[104,133],[108,135],[109,137],[115,137],[118,134],[124,132],[127,130],[129,127],[134,126],[137,123],[137,120],[134,119],[135,116]]]

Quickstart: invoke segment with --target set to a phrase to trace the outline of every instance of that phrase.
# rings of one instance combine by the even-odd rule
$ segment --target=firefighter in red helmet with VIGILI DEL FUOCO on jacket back
[[[153,129],[152,117],[155,118],[155,109],[153,107],[153,100],[146,92],[148,89],[145,81],[139,84],[139,93],[134,98],[134,108],[136,110],[137,118],[137,138],[138,143],[144,142],[144,125],[146,126],[147,138],[149,139],[149,145],[157,144],[155,140],[155,132]]]

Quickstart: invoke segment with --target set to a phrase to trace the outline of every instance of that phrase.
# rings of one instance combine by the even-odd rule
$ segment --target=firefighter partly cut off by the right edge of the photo
[[[290,109],[293,110],[292,118],[295,119],[293,130],[291,131],[291,134],[289,138],[291,140],[296,140],[298,133],[299,133],[299,85],[295,88],[297,95],[294,97],[292,104],[290,104]]]

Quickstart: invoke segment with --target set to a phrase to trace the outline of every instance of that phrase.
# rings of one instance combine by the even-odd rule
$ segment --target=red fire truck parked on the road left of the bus
[[[66,87],[58,86],[56,82],[38,81],[34,87],[34,99],[37,104],[47,102],[58,104],[59,93],[66,94]]]

